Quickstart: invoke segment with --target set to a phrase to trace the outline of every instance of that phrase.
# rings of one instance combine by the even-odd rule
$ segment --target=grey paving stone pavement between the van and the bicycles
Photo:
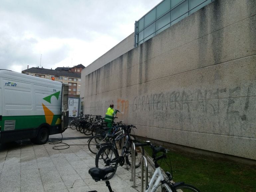
[[[47,142],[35,145],[30,140],[0,144],[0,191],[107,192],[104,181],[95,182],[88,174],[89,168],[95,167],[95,154],[89,151],[87,145],[78,145],[87,144],[88,138],[70,128],[62,135],[63,143],[70,145],[63,150],[53,149],[53,146],[61,144]],[[52,135],[49,139],[62,138],[62,135]],[[153,171],[150,165],[149,170]],[[131,167],[126,169],[123,165],[118,166],[109,182],[115,192],[137,192],[141,190],[140,176],[140,168],[137,168],[136,187],[133,188]]]

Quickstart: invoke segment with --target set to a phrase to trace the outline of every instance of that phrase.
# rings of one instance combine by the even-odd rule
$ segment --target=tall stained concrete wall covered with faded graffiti
[[[110,103],[135,133],[256,160],[255,0],[216,0],[88,75],[84,113]]]

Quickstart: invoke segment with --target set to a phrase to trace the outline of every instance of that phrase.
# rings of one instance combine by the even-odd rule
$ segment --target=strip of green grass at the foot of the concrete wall
[[[148,146],[144,148],[151,156],[152,149]],[[158,162],[164,171],[170,173],[169,158],[175,182],[184,181],[201,192],[256,192],[255,167],[233,162],[212,161],[170,150],[166,161]]]

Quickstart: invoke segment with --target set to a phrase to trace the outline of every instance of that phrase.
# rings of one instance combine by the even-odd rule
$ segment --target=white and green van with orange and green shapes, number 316
[[[45,144],[68,125],[68,85],[0,69],[0,143]]]

